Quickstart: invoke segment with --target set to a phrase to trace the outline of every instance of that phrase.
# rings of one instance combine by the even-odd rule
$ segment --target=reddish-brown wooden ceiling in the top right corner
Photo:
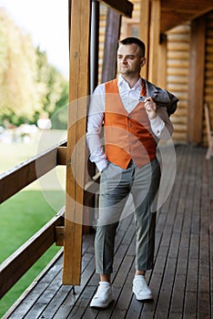
[[[161,0],[160,31],[165,33],[211,10],[213,0]]]

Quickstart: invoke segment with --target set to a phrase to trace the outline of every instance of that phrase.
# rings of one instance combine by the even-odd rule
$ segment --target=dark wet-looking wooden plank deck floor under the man
[[[113,286],[115,302],[106,310],[89,303],[96,291],[93,235],[84,237],[81,285],[61,284],[62,257],[25,293],[6,318],[157,318],[208,319],[212,309],[213,160],[206,149],[177,146],[177,177],[157,214],[155,267],[147,273],[154,302],[138,302],[132,293],[135,227],[132,216],[117,232]]]

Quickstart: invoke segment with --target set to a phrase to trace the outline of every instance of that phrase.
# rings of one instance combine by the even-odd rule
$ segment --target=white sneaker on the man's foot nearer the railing
[[[100,282],[90,307],[106,308],[114,300],[110,283]]]

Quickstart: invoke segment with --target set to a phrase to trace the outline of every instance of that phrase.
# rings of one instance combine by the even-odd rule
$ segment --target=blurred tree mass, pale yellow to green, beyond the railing
[[[35,48],[0,7],[0,120],[18,125],[36,123],[43,112],[52,117],[67,103],[67,87],[46,52]]]

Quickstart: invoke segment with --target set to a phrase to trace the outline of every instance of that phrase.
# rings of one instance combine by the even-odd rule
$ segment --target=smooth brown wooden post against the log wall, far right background
[[[188,142],[192,143],[200,143],[202,141],[205,31],[205,16],[192,21],[188,78]]]

